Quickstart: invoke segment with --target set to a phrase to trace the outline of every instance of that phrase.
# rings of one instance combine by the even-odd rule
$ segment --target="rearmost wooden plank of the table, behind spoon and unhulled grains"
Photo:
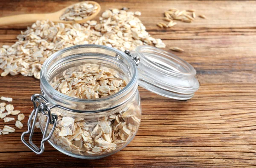
[[[109,1],[109,0],[96,0],[102,6],[102,11],[109,8],[121,9],[128,7],[132,11],[141,11],[142,16],[140,19],[145,26],[149,29],[154,28],[157,30],[156,23],[163,17],[163,11],[170,8],[195,9],[198,14],[207,16],[207,20],[196,19],[193,24],[180,23],[175,26],[174,30],[183,29],[196,29],[196,28],[255,28],[255,24],[251,20],[256,20],[255,7],[256,2],[253,0],[248,1],[201,1],[201,0],[129,0],[129,1]],[[58,11],[76,3],[78,1],[51,1],[51,0],[24,0],[19,1],[1,1],[2,6],[0,16],[9,16],[13,14],[24,13],[49,13]],[[232,2],[232,3],[231,3]],[[141,8],[143,6],[143,8]],[[245,10],[246,9],[246,10]],[[235,17],[234,17],[235,16]],[[150,19],[148,19],[150,17]],[[16,27],[17,28],[17,27]]]

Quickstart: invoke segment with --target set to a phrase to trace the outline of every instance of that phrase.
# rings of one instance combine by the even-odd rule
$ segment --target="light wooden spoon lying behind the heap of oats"
[[[60,16],[64,13],[64,11],[67,8],[71,8],[76,4],[80,4],[80,3],[84,3],[84,2],[88,2],[91,4],[95,4],[96,6],[98,6],[98,9],[96,10],[95,13],[93,13],[92,15],[90,15],[89,17],[86,17],[83,20],[72,20],[72,21],[65,21],[65,20],[60,20]],[[34,23],[36,20],[51,20],[53,22],[61,22],[61,23],[84,23],[87,20],[91,20],[94,17],[96,17],[96,15],[99,13],[100,11],[100,5],[99,3],[96,3],[94,1],[83,1],[83,2],[79,2],[73,5],[70,5],[64,9],[61,9],[60,11],[56,11],[54,13],[46,13],[46,14],[17,14],[17,15],[12,15],[12,16],[6,16],[6,17],[0,17],[0,26],[7,26],[7,25],[16,25],[16,24],[21,24],[21,23]]]

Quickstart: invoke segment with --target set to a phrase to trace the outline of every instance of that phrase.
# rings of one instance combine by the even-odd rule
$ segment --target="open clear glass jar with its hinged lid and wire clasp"
[[[51,84],[73,71],[104,66],[116,71],[126,83],[122,90],[99,99],[69,97]],[[196,71],[177,56],[150,46],[135,51],[119,51],[99,45],[64,48],[50,56],[40,74],[41,94],[31,100],[34,110],[22,141],[41,154],[44,142],[72,157],[98,159],[120,151],[134,138],[141,120],[138,83],[154,93],[187,100],[199,87]],[[38,118],[43,135],[41,147],[32,142]],[[30,134],[29,143],[24,136]]]

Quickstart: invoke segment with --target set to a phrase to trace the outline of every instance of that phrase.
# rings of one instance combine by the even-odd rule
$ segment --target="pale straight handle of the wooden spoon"
[[[0,17],[0,26],[14,25],[20,23],[34,23],[36,20],[47,20],[51,17],[49,14],[18,14],[6,17]]]

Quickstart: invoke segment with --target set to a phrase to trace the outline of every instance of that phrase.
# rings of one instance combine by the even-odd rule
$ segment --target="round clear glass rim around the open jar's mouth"
[[[106,97],[101,97],[101,98],[98,98],[98,99],[81,99],[81,98],[70,97],[70,96],[67,96],[65,94],[60,93],[59,91],[55,90],[50,85],[50,83],[47,79],[47,68],[49,67],[49,64],[53,61],[54,58],[60,56],[64,52],[67,52],[67,51],[70,51],[70,50],[73,50],[73,49],[76,49],[76,48],[101,48],[101,49],[105,49],[105,50],[108,50],[108,51],[113,51],[114,53],[119,54],[125,60],[128,61],[130,67],[133,69],[134,73],[131,76],[131,80],[129,81],[129,83],[122,90],[118,91],[117,93],[115,93],[113,95],[106,96]],[[116,48],[112,48],[112,47],[108,47],[108,46],[102,46],[102,45],[95,45],[95,44],[71,46],[71,47],[67,47],[67,48],[61,49],[61,50],[53,53],[50,57],[47,58],[47,60],[45,60],[44,64],[42,65],[41,72],[40,72],[40,81],[43,85],[45,85],[45,87],[47,89],[49,89],[50,93],[56,94],[59,97],[63,98],[64,100],[75,101],[75,102],[78,102],[78,103],[99,103],[99,102],[103,102],[103,101],[109,101],[109,100],[111,100],[115,97],[118,97],[121,94],[124,94],[127,90],[132,88],[133,85],[137,83],[137,79],[138,79],[137,65],[134,62],[134,60],[132,60],[131,57],[129,57],[127,54],[125,54],[124,52],[122,52],[122,51],[120,51]],[[41,91],[42,91],[42,89],[41,89]]]

